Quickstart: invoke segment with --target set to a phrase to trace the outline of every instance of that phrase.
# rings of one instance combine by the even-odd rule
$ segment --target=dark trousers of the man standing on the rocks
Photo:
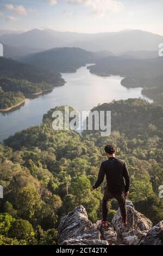
[[[122,221],[127,221],[126,195],[124,192],[110,192],[108,187],[105,187],[104,197],[102,201],[103,221],[107,221],[109,211],[109,200],[115,198],[120,206]]]

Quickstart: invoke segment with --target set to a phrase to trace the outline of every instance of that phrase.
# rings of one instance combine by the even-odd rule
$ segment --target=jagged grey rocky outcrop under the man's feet
[[[123,227],[120,209],[112,224],[101,228],[101,221],[93,224],[80,205],[60,220],[59,245],[163,245],[163,221],[152,228],[152,222],[137,212],[127,201],[128,225]]]

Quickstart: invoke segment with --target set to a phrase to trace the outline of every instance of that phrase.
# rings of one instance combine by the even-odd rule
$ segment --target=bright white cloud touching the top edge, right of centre
[[[108,11],[120,13],[123,4],[116,0],[66,0],[68,4],[85,5],[91,7],[93,16],[104,16]]]

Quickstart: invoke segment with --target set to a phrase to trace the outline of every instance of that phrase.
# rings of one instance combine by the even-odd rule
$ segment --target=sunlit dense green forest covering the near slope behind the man
[[[52,112],[64,110],[63,106],[49,110],[40,126],[17,132],[0,146],[1,245],[57,243],[59,219],[80,204],[91,221],[100,219],[105,182],[92,194],[90,188],[106,159],[108,143],[127,162],[129,199],[136,209],[154,224],[163,219],[163,201],[158,198],[163,182],[163,107],[128,99],[95,109],[111,110],[110,136],[101,137],[97,131],[54,131]],[[110,209],[109,221],[117,210],[115,200]]]

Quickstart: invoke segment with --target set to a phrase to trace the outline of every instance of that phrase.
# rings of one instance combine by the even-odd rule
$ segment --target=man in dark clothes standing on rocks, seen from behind
[[[126,197],[129,194],[130,176],[124,160],[115,157],[115,148],[111,144],[105,146],[105,153],[108,160],[102,162],[99,169],[98,178],[91,192],[98,188],[106,175],[106,187],[102,200],[102,227],[107,227],[107,217],[109,210],[109,199],[115,198],[120,206],[122,222],[127,226]],[[124,184],[125,180],[125,184]]]

